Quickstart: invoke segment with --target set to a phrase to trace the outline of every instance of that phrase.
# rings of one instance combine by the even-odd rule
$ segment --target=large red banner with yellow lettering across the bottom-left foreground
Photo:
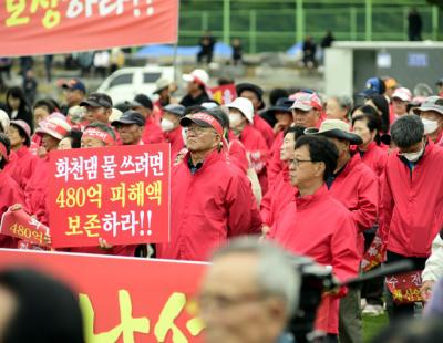
[[[79,293],[89,343],[203,342],[194,299],[205,263],[0,249],[0,268],[13,266]]]

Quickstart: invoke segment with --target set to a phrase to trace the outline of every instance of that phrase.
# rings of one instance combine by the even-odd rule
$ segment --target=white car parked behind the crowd
[[[153,95],[155,82],[164,77],[174,80],[173,66],[146,65],[142,67],[123,67],[112,73],[97,89],[99,93],[111,96],[114,104],[131,101],[137,94],[145,94],[155,101]]]

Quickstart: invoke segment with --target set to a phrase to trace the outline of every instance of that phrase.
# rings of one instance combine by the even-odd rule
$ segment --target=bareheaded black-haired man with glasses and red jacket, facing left
[[[326,180],[337,166],[338,150],[324,137],[305,135],[297,139],[289,167],[295,199],[277,218],[268,237],[298,254],[306,254],[346,281],[356,277],[360,263],[357,228],[352,215],[328,191]],[[339,299],[328,294],[318,310],[316,329],[337,342]]]

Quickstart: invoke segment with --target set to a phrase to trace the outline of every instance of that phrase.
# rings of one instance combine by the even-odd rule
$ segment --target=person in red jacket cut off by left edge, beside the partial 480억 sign
[[[11,143],[7,135],[0,133],[0,218],[13,204],[23,204],[24,197],[19,185],[4,172]],[[0,233],[0,248],[17,248],[18,239]]]

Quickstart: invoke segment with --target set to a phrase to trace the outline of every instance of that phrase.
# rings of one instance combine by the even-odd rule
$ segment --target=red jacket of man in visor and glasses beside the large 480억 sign
[[[172,169],[171,242],[157,246],[158,258],[205,261],[229,238],[260,232],[260,214],[241,170],[215,150],[192,174],[189,156]]]

